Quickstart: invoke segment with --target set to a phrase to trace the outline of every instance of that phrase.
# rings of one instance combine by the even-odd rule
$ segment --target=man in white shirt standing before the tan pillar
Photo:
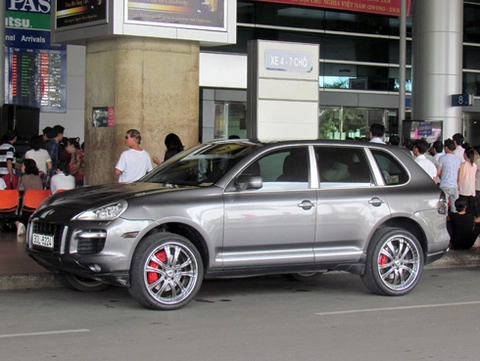
[[[115,165],[115,174],[120,183],[131,183],[150,172],[152,162],[150,155],[140,147],[142,137],[136,129],[130,129],[125,136],[125,145],[129,148],[122,152]]]

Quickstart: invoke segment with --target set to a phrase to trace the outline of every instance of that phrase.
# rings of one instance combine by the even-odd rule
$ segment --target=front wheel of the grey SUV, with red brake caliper
[[[135,251],[128,290],[144,307],[175,310],[195,297],[202,281],[203,263],[195,246],[177,234],[156,233]]]

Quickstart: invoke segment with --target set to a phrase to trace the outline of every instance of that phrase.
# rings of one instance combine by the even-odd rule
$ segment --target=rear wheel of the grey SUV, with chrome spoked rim
[[[402,296],[417,285],[423,263],[422,247],[413,234],[385,228],[373,235],[361,278],[372,293]]]

